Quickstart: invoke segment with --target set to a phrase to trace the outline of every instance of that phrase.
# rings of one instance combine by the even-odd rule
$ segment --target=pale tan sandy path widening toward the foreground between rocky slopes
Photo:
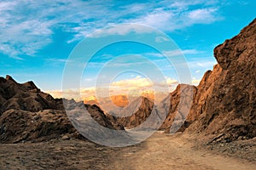
[[[209,150],[195,150],[195,145],[178,135],[154,133],[143,149],[126,150],[115,161],[119,169],[256,169],[256,162],[242,161],[213,154]]]

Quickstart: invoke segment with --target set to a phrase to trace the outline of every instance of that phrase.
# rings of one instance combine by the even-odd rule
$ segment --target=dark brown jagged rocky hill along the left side
[[[79,105],[74,100],[65,101]],[[98,106],[84,106],[103,127],[123,129],[113,125]],[[0,143],[82,138],[70,122],[74,115],[67,117],[62,99],[41,92],[33,82],[20,84],[10,76],[0,77],[0,108]]]

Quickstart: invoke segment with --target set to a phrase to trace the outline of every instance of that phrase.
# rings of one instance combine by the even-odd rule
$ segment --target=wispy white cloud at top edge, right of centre
[[[215,8],[217,3],[217,1],[208,3],[204,1],[170,3],[167,1],[163,7],[154,8],[153,11],[129,21],[153,26],[163,31],[175,31],[195,24],[210,24],[222,19],[218,14],[218,8]],[[190,8],[195,5],[201,5],[201,8]]]

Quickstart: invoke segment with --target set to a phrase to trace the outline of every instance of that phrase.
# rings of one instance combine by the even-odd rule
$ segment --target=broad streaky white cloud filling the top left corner
[[[96,12],[92,9],[98,15],[104,13],[102,5],[79,0],[65,3],[23,0],[15,3],[1,2],[0,44],[3,47],[0,52],[14,58],[21,55],[34,56],[39,49],[52,42],[55,28],[73,31],[73,26],[83,23],[82,20],[93,18]],[[78,37],[82,31],[75,32],[75,37]]]

